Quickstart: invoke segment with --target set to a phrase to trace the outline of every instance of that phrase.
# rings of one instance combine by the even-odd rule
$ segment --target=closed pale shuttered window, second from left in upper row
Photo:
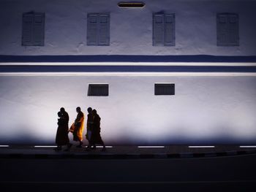
[[[89,13],[87,15],[87,45],[110,45],[110,15]]]

